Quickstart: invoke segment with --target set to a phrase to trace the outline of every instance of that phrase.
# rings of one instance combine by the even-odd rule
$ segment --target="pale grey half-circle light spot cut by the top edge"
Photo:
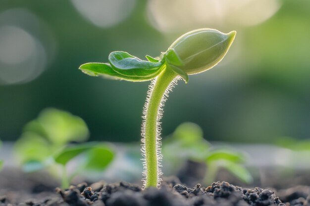
[[[75,8],[98,27],[110,27],[126,19],[136,0],[71,0]]]

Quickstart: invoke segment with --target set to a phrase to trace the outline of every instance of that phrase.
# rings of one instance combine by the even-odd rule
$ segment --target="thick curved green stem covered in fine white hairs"
[[[177,75],[173,71],[164,69],[149,86],[148,98],[144,108],[145,121],[142,126],[145,187],[157,187],[159,185],[161,170],[158,167],[160,166],[158,161],[162,156],[159,136],[159,120],[162,116],[161,107],[176,77]]]

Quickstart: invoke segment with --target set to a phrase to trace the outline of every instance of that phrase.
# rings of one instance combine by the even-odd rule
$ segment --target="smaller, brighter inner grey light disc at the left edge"
[[[0,27],[0,82],[29,82],[46,66],[42,44],[25,30],[14,26]]]

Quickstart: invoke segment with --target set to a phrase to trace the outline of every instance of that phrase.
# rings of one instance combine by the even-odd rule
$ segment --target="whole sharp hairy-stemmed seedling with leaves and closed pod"
[[[80,66],[79,69],[90,76],[131,82],[154,79],[149,86],[141,129],[144,187],[159,186],[161,180],[159,121],[169,91],[180,77],[187,83],[188,75],[204,72],[220,62],[235,35],[235,31],[224,34],[214,29],[198,29],[182,35],[160,57],[146,55],[148,61],[124,51],[114,51],[109,54],[108,63]]]

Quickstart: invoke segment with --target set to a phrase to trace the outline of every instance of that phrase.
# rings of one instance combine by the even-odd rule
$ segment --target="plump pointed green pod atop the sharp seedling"
[[[169,49],[173,49],[183,63],[183,66],[178,68],[188,75],[193,75],[204,72],[220,62],[235,36],[236,31],[224,34],[215,29],[197,29],[179,37]]]

